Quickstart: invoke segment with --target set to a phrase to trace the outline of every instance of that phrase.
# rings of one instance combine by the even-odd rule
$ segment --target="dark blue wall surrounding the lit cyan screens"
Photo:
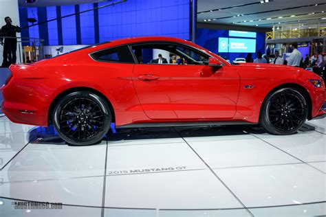
[[[196,43],[206,49],[210,50],[211,52],[217,54],[219,53],[219,38],[229,37],[229,30],[210,30],[210,29],[202,29],[197,28],[196,30]],[[256,58],[257,52],[261,52],[262,54],[265,53],[265,34],[257,32],[256,36],[256,52],[252,53],[252,57]],[[233,61],[235,58],[243,57],[246,58],[248,53],[219,53],[222,57],[226,57],[229,60]]]

